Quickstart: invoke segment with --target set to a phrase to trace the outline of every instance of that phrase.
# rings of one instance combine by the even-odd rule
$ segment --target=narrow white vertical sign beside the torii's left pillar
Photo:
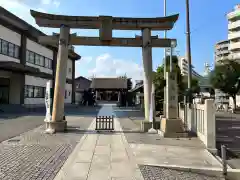
[[[52,81],[49,80],[47,81],[46,84],[46,93],[45,93],[45,106],[46,106],[46,117],[45,121],[51,121],[52,120],[52,115],[51,115],[51,86],[52,86]]]

